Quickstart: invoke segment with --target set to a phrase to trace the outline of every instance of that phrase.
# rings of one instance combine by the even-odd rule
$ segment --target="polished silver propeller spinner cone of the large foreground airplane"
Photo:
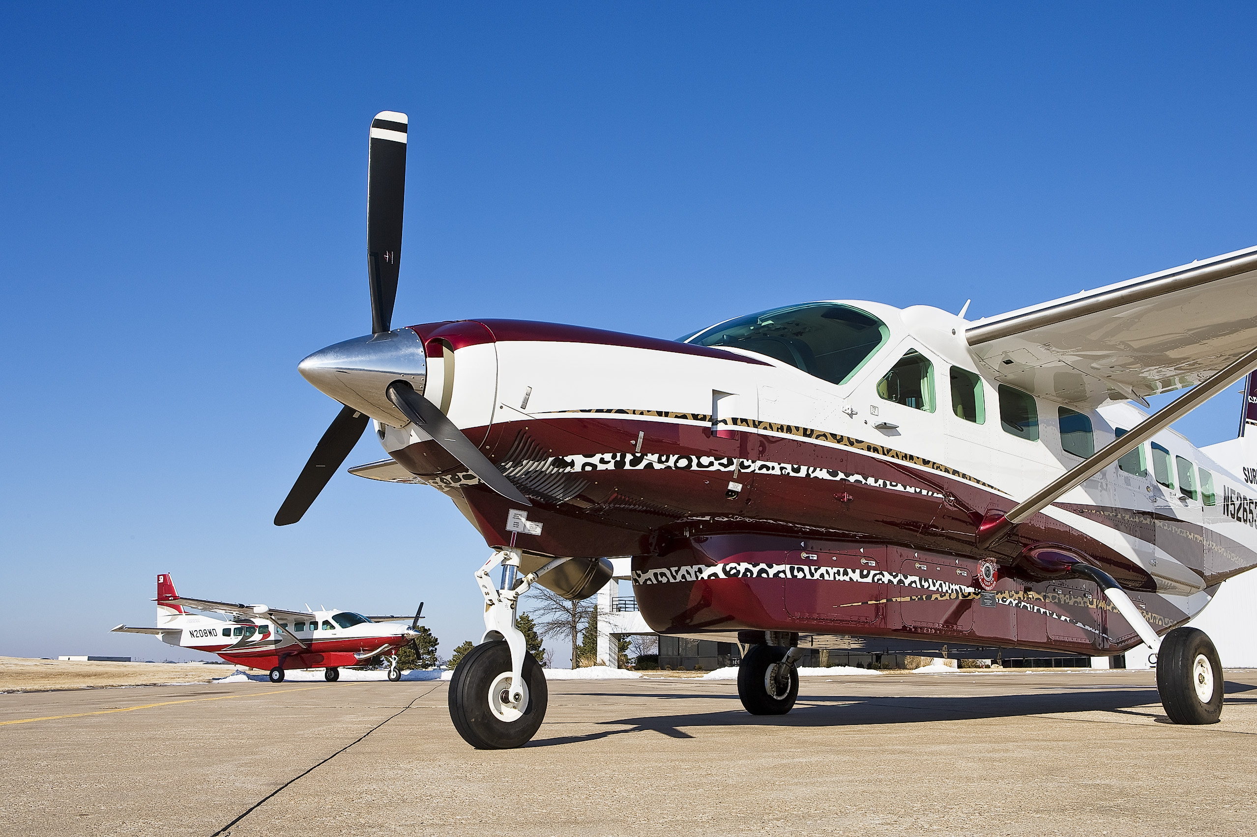
[[[422,395],[427,380],[424,343],[414,331],[367,334],[314,352],[297,371],[321,392],[395,427],[410,424],[388,400],[388,385],[406,381]]]

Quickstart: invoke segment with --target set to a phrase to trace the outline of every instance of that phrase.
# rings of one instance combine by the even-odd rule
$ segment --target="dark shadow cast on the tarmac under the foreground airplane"
[[[1226,684],[1226,703],[1229,705],[1254,704],[1254,698],[1233,698],[1246,691],[1257,690],[1242,682]],[[640,694],[590,692],[593,698],[640,698]],[[727,695],[655,695],[662,699],[720,698]],[[1149,709],[1154,705],[1155,709]],[[1138,711],[1135,708],[1141,708]],[[869,696],[869,695],[807,695],[799,698],[794,710],[788,715],[750,715],[742,709],[688,713],[684,715],[652,715],[645,718],[622,718],[602,721],[616,726],[588,735],[563,735],[557,738],[534,739],[525,747],[554,747],[592,741],[625,733],[656,731],[669,738],[696,738],[681,728],[704,726],[865,726],[869,724],[923,724],[943,720],[978,720],[987,718],[1017,718],[1023,715],[1051,715],[1061,713],[1107,711],[1139,718],[1151,718],[1155,721],[1170,723],[1160,711],[1160,696],[1155,689],[1095,689],[1073,691],[1051,691],[1029,695],[973,695],[965,698],[930,698],[915,695],[911,698]],[[544,729],[544,728],[543,728]]]

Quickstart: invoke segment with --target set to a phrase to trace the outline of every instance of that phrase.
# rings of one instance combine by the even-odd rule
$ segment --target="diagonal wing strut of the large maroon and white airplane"
[[[1014,505],[1011,510],[1004,513],[988,512],[987,519],[978,527],[978,547],[987,549],[993,545],[1007,535],[1016,524],[1028,520],[1052,503],[1056,503],[1066,491],[1082,485],[1084,480],[1109,468],[1254,368],[1257,368],[1257,349],[1248,352],[1231,366],[1195,385],[1187,395],[1161,407],[1139,422],[1129,434],[1112,440],[1096,451],[1091,459],[1065,471],[1038,491]]]

